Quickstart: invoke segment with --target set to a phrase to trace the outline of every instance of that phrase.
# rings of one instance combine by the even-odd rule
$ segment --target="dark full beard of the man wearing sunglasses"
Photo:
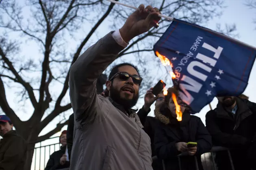
[[[123,106],[124,108],[132,108],[133,106],[135,106],[137,104],[137,101],[139,99],[139,93],[135,94],[135,92],[133,93],[132,99],[121,98],[120,91],[115,89],[112,85],[110,87],[110,95],[111,95],[110,97],[112,98],[112,100],[114,100],[115,102],[117,102],[118,104]]]

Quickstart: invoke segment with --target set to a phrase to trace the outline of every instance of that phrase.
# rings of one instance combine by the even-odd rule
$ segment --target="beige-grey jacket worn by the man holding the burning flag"
[[[111,33],[72,65],[70,100],[75,128],[70,170],[152,170],[150,138],[137,114],[96,95],[96,81],[123,47]]]

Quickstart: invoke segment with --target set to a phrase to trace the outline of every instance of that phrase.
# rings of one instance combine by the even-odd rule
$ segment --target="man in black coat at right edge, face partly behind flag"
[[[256,104],[234,96],[217,97],[217,108],[206,114],[206,128],[213,144],[231,150],[235,170],[255,169]],[[216,153],[219,170],[231,170],[227,151]]]

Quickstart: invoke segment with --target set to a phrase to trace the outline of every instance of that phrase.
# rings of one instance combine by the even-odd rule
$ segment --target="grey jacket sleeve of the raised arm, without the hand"
[[[97,79],[122,49],[124,47],[109,33],[80,55],[71,66],[69,96],[76,120],[85,120],[96,113]]]

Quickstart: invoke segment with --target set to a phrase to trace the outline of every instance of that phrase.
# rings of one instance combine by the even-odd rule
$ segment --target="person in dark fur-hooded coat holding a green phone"
[[[158,159],[165,160],[166,170],[195,170],[196,162],[200,170],[203,169],[201,155],[210,151],[211,136],[199,117],[190,115],[189,109],[178,98],[182,111],[182,121],[177,120],[176,106],[171,94],[178,96],[174,88],[169,88],[165,102],[154,110],[159,120],[155,130],[154,145]],[[188,147],[187,142],[197,142],[196,147]],[[180,165],[177,155],[180,157]],[[180,166],[180,167],[179,167]]]

